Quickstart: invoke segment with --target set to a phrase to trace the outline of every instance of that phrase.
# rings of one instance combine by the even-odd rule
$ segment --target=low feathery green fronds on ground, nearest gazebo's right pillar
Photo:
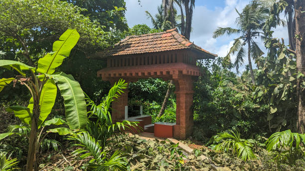
[[[237,154],[237,157],[243,161],[256,159],[255,154],[252,151],[252,144],[244,139],[240,138],[240,134],[237,130],[230,131],[230,133],[220,133],[215,136],[215,141],[219,142],[215,146],[215,151],[229,152],[233,150]]]

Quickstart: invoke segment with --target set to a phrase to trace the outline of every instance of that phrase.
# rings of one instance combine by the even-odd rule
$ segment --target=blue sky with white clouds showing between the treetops
[[[147,19],[145,11],[148,10],[154,15],[161,1],[141,0],[141,5],[139,5],[138,0],[126,0],[128,25],[132,27],[136,24],[147,24],[152,27],[151,20]],[[224,57],[232,46],[233,39],[238,35],[221,36],[214,39],[212,38],[213,32],[217,27],[234,28],[237,17],[235,8],[240,11],[249,2],[250,0],[195,0],[190,40],[203,49]],[[274,37],[283,37],[285,42],[288,42],[287,28],[278,27],[275,29]],[[257,42],[261,49],[267,53],[264,44],[260,40]],[[232,56],[231,60],[234,61],[235,58],[236,56]],[[248,61],[245,59],[245,65],[247,64]],[[240,68],[240,72],[244,70],[244,66]]]

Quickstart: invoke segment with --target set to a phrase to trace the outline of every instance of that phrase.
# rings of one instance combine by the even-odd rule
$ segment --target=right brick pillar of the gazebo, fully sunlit
[[[174,126],[174,137],[186,139],[192,134],[193,113],[193,82],[191,76],[182,76],[175,81],[176,86],[176,125]]]

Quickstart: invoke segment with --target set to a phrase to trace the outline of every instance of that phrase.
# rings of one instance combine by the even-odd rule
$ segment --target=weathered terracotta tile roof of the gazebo
[[[187,40],[177,32],[177,29],[170,29],[160,33],[144,34],[140,36],[128,36],[97,55],[101,58],[118,55],[131,55],[141,53],[152,53],[180,49],[191,49],[197,51],[201,58],[215,58],[212,54],[194,43]]]

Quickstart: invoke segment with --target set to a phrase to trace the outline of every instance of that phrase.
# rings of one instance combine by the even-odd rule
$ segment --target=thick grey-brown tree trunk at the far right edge
[[[295,1],[295,20],[296,20],[296,57],[297,69],[305,75],[305,0]],[[297,129],[301,134],[305,133],[305,90],[301,86],[305,77],[298,79],[297,96],[298,103],[298,122]]]

